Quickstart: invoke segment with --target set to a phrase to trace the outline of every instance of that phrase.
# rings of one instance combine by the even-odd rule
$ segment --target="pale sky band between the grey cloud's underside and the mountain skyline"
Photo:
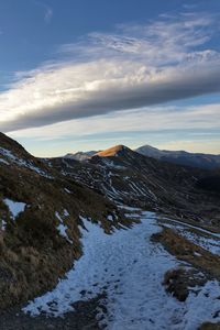
[[[107,116],[59,122],[12,132],[38,156],[59,156],[79,150],[100,150],[114,144],[138,147],[220,153],[220,103],[190,107],[156,106]],[[190,143],[189,143],[190,142]]]

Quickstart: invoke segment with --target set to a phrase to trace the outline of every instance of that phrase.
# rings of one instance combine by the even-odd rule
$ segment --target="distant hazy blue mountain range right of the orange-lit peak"
[[[220,167],[220,155],[189,153],[185,151],[158,150],[151,145],[143,145],[135,150],[138,153],[174,164],[213,169]]]

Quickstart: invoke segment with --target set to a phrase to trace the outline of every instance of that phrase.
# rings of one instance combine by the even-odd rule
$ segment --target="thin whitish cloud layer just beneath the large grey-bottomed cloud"
[[[26,129],[11,133],[13,138],[35,140],[91,139],[92,136],[131,135],[135,132],[194,131],[190,135],[220,132],[220,103],[190,107],[156,106],[144,109],[111,112],[107,116],[81,118],[42,128]],[[202,130],[202,133],[199,132]],[[92,139],[94,139],[92,138]],[[101,139],[102,139],[101,138]],[[119,138],[119,139],[120,139]],[[106,139],[106,138],[105,138]]]

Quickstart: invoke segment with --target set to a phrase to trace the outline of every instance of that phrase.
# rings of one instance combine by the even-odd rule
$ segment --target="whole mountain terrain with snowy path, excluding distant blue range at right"
[[[0,134],[0,328],[212,327],[217,174],[124,145],[40,160]]]

